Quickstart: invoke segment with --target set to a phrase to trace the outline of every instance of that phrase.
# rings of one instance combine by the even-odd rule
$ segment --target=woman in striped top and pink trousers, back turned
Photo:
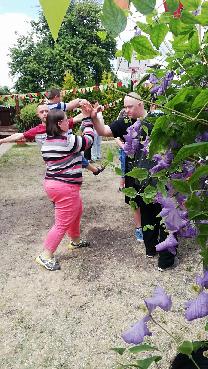
[[[83,110],[84,112],[84,110]],[[83,136],[70,134],[66,114],[62,110],[49,111],[46,119],[47,138],[41,152],[46,163],[44,180],[45,191],[55,204],[55,224],[44,241],[44,251],[36,262],[48,270],[60,269],[54,257],[58,245],[67,234],[71,240],[69,248],[88,246],[89,242],[80,240],[80,220],[82,200],[81,151],[93,144],[93,124],[91,118],[83,118]]]

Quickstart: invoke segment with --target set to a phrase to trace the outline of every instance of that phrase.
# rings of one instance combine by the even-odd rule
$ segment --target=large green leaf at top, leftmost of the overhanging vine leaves
[[[126,13],[121,8],[119,8],[112,0],[104,1],[100,18],[105,29],[113,37],[117,37],[126,28]]]

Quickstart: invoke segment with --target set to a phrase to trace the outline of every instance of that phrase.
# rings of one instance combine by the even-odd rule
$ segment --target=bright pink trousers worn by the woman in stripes
[[[44,188],[49,199],[55,203],[55,224],[46,236],[44,247],[55,252],[65,234],[70,238],[80,236],[80,186],[46,179]]]

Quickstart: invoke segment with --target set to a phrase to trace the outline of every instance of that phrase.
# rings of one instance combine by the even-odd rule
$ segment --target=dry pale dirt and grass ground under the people
[[[1,369],[117,368],[127,359],[111,348],[125,346],[121,333],[144,316],[143,299],[157,285],[173,300],[171,312],[156,311],[160,323],[179,339],[204,338],[203,319],[183,318],[184,302],[195,296],[192,285],[201,272],[196,245],[181,244],[178,268],[158,272],[156,258],[147,260],[134,239],[131,210],[110,168],[98,177],[85,172],[82,234],[91,247],[69,252],[64,239],[57,272],[34,262],[53,223],[38,148],[14,146],[0,158],[0,172]],[[147,341],[164,355],[157,368],[168,369],[176,345],[159,327],[149,326],[153,336]]]

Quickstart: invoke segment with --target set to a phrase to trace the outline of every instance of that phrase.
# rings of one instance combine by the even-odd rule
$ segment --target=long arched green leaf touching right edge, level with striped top
[[[198,142],[190,145],[184,145],[177,153],[173,160],[173,165],[180,163],[182,160],[197,155],[206,156],[208,153],[208,142]]]

